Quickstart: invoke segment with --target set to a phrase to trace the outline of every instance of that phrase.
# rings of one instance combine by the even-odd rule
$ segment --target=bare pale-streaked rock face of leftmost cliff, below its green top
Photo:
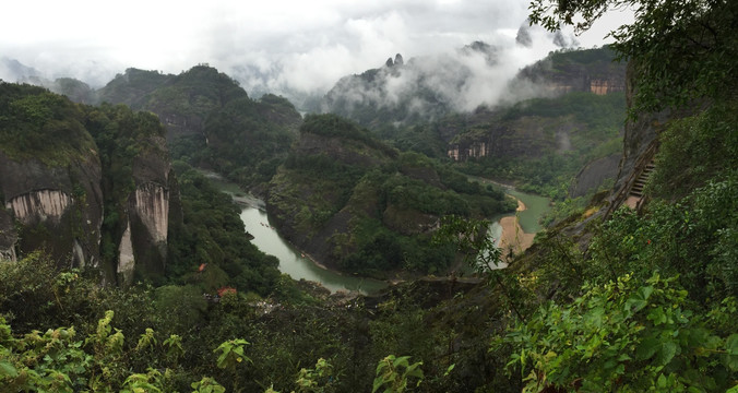
[[[102,167],[96,154],[52,167],[37,159],[14,160],[0,152],[0,252],[46,249],[57,261],[97,266],[103,223]],[[11,221],[19,223],[20,233]],[[12,223],[11,221],[11,223]]]

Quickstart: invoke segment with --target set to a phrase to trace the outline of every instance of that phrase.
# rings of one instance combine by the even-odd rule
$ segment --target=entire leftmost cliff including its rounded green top
[[[0,90],[3,253],[40,248],[60,264],[97,266],[103,170],[83,112],[40,88]]]

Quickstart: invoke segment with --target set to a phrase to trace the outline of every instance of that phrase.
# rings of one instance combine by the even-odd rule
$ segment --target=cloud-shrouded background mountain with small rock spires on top
[[[342,78],[323,98],[323,112],[344,116],[369,129],[385,123],[428,122],[452,111],[473,109],[485,92],[504,81],[479,70],[493,70],[500,50],[477,41],[452,53],[413,58],[397,53],[383,67]],[[486,85],[483,85],[483,81]],[[472,106],[469,108],[469,106]]]

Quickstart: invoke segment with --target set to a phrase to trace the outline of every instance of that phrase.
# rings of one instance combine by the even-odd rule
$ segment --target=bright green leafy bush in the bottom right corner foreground
[[[509,333],[517,348],[509,367],[520,370],[524,391],[724,391],[733,383],[734,338],[715,335],[674,278],[654,274],[641,285],[623,275],[582,290]]]

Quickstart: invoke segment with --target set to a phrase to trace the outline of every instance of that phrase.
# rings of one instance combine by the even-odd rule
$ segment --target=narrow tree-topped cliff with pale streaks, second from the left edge
[[[170,192],[177,188],[172,187],[166,131],[154,115],[123,106],[88,107],[86,126],[103,157],[106,277],[127,285],[136,275],[162,276],[170,201],[178,206],[179,199]]]

